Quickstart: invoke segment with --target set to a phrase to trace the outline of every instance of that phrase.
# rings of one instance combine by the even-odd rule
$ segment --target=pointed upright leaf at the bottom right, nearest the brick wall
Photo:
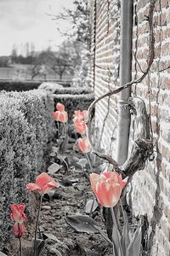
[[[127,256],[139,256],[141,239],[142,239],[142,229],[141,229],[141,226],[139,226],[139,228],[134,233],[133,238],[127,247]]]

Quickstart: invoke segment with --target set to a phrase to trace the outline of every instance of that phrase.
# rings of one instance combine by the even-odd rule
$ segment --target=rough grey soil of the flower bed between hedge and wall
[[[40,215],[39,230],[40,238],[45,239],[45,248],[42,256],[109,256],[112,254],[111,245],[100,234],[77,232],[70,224],[66,222],[66,216],[86,215],[86,203],[94,199],[94,195],[88,182],[89,166],[86,165],[84,171],[77,165],[77,161],[84,158],[84,155],[74,146],[74,141],[69,144],[69,150],[66,151],[65,165],[55,172],[53,176],[59,181],[60,187],[51,195],[44,195],[42,201],[42,210]],[[51,162],[58,162],[54,152],[51,154]],[[31,193],[31,196],[32,193]],[[38,200],[34,201],[34,207],[37,209]],[[89,210],[89,209],[88,209]],[[37,210],[36,210],[37,215]],[[92,218],[99,227],[105,232],[103,217],[98,206],[92,213]],[[23,256],[31,256],[29,253],[29,241],[34,237],[36,219],[28,219],[26,222],[26,235],[23,240]],[[8,255],[18,254],[19,242],[17,239],[10,241],[5,253]],[[8,253],[13,252],[13,253]]]

